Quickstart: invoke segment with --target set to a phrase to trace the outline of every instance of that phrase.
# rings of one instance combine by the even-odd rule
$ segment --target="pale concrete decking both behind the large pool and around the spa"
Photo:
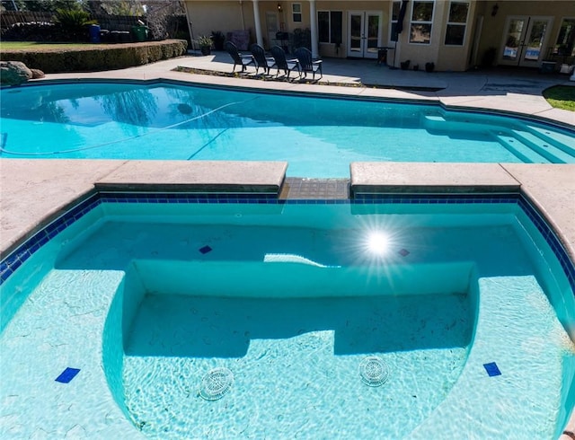
[[[575,85],[566,75],[539,75],[512,71],[473,73],[431,73],[392,70],[377,66],[375,61],[324,60],[322,84],[299,84],[235,78],[218,75],[196,75],[175,72],[177,66],[231,72],[227,54],[210,57],[180,57],[148,66],[88,74],[46,75],[47,80],[74,79],[139,79],[165,78],[197,84],[220,84],[229,87],[256,87],[291,92],[323,92],[374,96],[405,100],[440,101],[447,107],[511,111],[557,121],[575,127],[575,113],[553,109],[541,92],[554,84]],[[349,84],[353,86],[342,87]],[[361,84],[377,85],[376,87]],[[437,90],[436,90],[437,89]],[[3,256],[54,218],[85,197],[96,187],[134,189],[137,185],[173,186],[217,184],[257,188],[278,188],[285,178],[285,163],[221,163],[202,167],[197,163],[152,163],[144,161],[84,160],[0,160],[0,251]],[[305,198],[324,198],[329,182],[306,185]],[[292,182],[293,183],[293,182]],[[317,184],[316,184],[317,183]],[[354,163],[350,167],[351,189],[406,191],[433,189],[437,192],[462,192],[470,189],[497,191],[520,190],[546,217],[559,235],[571,260],[575,260],[575,165],[508,164],[508,163]],[[215,187],[214,187],[215,185]],[[285,182],[284,182],[285,186]],[[302,198],[304,192],[294,189],[280,197]],[[194,187],[194,188],[197,188]],[[283,196],[282,196],[283,195]],[[336,197],[347,197],[343,191]],[[573,438],[575,412],[566,427]]]

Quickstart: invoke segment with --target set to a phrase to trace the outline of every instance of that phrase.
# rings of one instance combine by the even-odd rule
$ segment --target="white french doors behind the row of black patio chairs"
[[[383,16],[381,11],[349,11],[348,57],[377,57]]]

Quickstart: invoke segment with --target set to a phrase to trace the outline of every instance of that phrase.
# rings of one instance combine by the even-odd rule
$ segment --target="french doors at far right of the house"
[[[552,17],[510,16],[501,43],[500,64],[538,67],[545,57],[544,48],[551,33]]]

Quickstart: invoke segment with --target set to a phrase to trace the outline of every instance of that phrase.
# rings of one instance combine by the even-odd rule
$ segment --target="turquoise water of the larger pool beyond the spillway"
[[[4,88],[1,157],[288,161],[295,177],[351,162],[575,163],[575,136],[439,105],[173,83]]]

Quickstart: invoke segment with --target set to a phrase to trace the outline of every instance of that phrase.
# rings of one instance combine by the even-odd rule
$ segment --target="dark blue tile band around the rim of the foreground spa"
[[[519,193],[491,194],[358,194],[349,199],[281,199],[275,193],[160,193],[160,192],[98,192],[85,198],[62,216],[34,233],[4,260],[0,261],[0,286],[13,272],[22,266],[31,255],[49,242],[67,226],[74,224],[94,207],[102,203],[160,203],[160,204],[265,204],[265,205],[376,205],[376,204],[413,204],[413,205],[446,205],[446,204],[517,204],[526,216],[535,224],[537,230],[549,244],[559,260],[571,289],[575,295],[575,265],[553,230],[533,207]]]

